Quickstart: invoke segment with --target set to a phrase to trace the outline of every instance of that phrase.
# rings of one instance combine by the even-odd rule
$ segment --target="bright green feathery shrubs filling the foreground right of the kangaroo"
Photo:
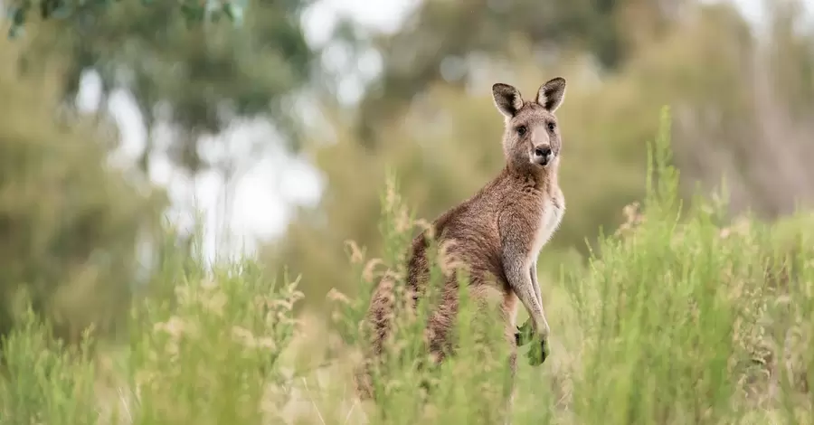
[[[812,234],[798,228],[789,240],[746,218],[726,226],[703,200],[679,218],[667,134],[656,145],[660,183],[643,212],[602,241],[586,279],[566,278],[584,341],[576,417],[802,420],[814,365],[805,354],[814,335]]]

